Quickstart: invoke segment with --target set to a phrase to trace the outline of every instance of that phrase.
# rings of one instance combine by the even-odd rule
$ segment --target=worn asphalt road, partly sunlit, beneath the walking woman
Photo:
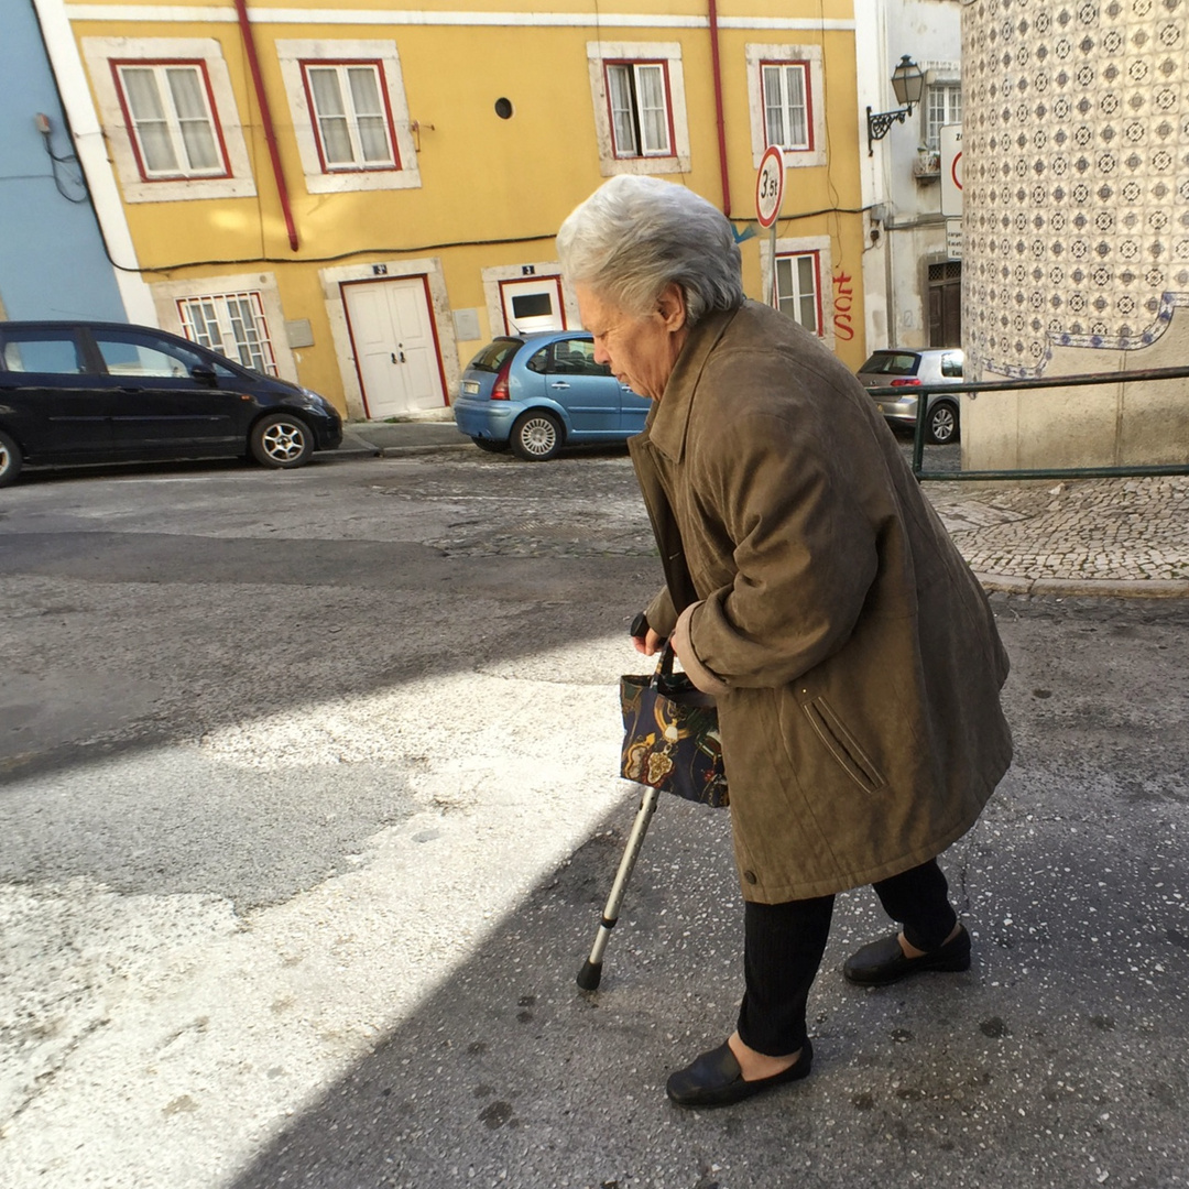
[[[1189,1183],[1189,606],[996,596],[1017,761],[945,856],[958,976],[684,1113],[741,990],[726,819],[635,810],[619,451],[31,476],[0,493],[0,1184]],[[894,707],[889,707],[894,712]]]

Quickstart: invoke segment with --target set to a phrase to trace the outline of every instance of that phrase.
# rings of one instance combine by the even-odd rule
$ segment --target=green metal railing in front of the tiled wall
[[[1089,388],[1095,384],[1132,384],[1140,380],[1189,379],[1189,367],[1150,367],[1146,371],[1062,376],[1058,379],[1006,379],[973,384],[921,384],[911,389],[917,401],[917,423],[912,438],[912,473],[918,480],[948,479],[1113,479],[1141,474],[1189,474],[1189,463],[1127,466],[1024,467],[1004,471],[926,471],[925,427],[931,396],[961,396],[963,392],[1026,392],[1042,388]],[[869,388],[870,396],[905,395],[902,386]],[[958,419],[961,433],[962,419]]]

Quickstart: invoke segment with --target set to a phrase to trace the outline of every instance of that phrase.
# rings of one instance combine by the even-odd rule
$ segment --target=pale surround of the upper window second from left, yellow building
[[[413,121],[404,96],[404,75],[396,42],[329,39],[285,39],[276,43],[281,77],[289,99],[289,113],[294,121],[297,153],[306,189],[309,194],[341,194],[348,190],[408,190],[421,185],[416,145],[413,143]],[[383,82],[383,99],[389,117],[389,136],[392,137],[395,165],[364,169],[327,168],[323,163],[319,134],[315,128],[316,113],[306,88],[306,70],[309,67],[375,65]]]

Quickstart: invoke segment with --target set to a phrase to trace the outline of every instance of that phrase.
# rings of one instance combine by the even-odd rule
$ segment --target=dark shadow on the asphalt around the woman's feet
[[[843,958],[887,923],[868,889],[842,895],[813,1076],[722,1112],[671,1107],[667,1074],[734,1026],[742,905],[725,816],[663,798],[603,986],[579,992],[629,793],[235,1189],[1183,1184],[1189,741],[1156,721],[1185,681],[1164,655],[1168,684],[1139,685],[1126,659],[1166,649],[1183,615],[1139,642],[1109,608],[1053,608],[1094,644],[1055,662],[1036,647],[1053,619],[1011,610],[1017,765],[944,857],[969,973],[850,987]]]

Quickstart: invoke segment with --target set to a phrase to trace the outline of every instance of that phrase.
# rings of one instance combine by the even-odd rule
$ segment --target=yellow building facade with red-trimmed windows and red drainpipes
[[[490,338],[579,325],[554,235],[642,172],[723,209],[748,294],[856,369],[850,4],[609,7],[61,5],[159,325],[351,419],[442,415]],[[756,224],[773,143],[774,237]]]

